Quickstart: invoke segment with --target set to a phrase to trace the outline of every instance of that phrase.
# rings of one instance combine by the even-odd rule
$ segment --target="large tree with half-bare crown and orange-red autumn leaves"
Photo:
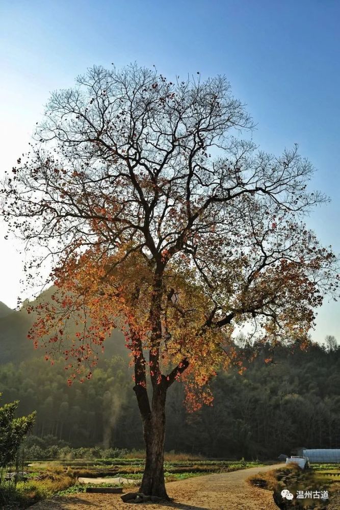
[[[302,338],[323,293],[337,292],[334,255],[302,223],[325,200],[306,189],[312,165],[296,146],[274,157],[233,136],[252,127],[224,77],[94,67],[51,95],[39,141],[5,183],[9,230],[33,249],[29,282],[52,259],[54,304],[31,310],[29,335],[46,359],[59,349],[69,384],[90,378],[110,331],[124,331],[145,494],[167,497],[174,381],[192,409],[210,402],[211,377],[241,364],[234,327],[252,323],[273,345]]]

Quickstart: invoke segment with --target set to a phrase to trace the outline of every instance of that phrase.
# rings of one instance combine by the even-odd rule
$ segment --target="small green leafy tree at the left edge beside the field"
[[[0,397],[1,397],[0,393]],[[35,413],[15,418],[19,402],[16,400],[0,407],[0,468],[14,461],[24,436],[32,428]]]

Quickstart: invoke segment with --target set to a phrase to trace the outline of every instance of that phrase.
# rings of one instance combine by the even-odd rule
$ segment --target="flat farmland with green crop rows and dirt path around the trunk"
[[[287,488],[292,492],[301,489],[327,489],[330,495],[328,508],[336,508],[339,503],[340,467],[336,464],[316,464],[311,469],[302,472],[294,468],[285,468],[284,464],[267,463],[266,466],[259,462],[244,460],[189,457],[185,458],[185,455],[181,454],[177,456],[168,454],[165,462],[165,479],[169,495],[175,499],[176,504],[184,505],[180,508],[196,507],[200,510],[203,508],[204,510],[225,508],[223,501],[226,498],[230,505],[228,508],[231,510],[233,508],[247,508],[247,510],[248,508],[263,508],[263,510],[285,508],[285,506],[280,506],[279,493],[282,488]],[[123,504],[119,495],[89,494],[86,493],[86,489],[89,487],[122,487],[123,492],[135,492],[136,484],[139,484],[142,479],[143,469],[144,459],[141,456],[36,460],[30,462],[25,468],[28,479],[17,482],[15,490],[12,491],[11,503],[2,508],[10,510],[12,508],[27,508],[31,505],[34,505],[36,510],[57,510],[59,508],[81,510],[87,506],[98,505],[102,508],[128,508],[129,505]],[[83,477],[93,478],[93,483],[80,483],[78,479]],[[95,478],[99,477],[103,482],[98,484]],[[136,481],[131,484],[119,484],[112,483],[110,480],[118,477]],[[108,482],[104,481],[106,478]],[[240,491],[247,498],[244,507],[236,506]],[[212,501],[214,502],[213,506],[211,506]],[[113,504],[115,506],[112,506]],[[178,508],[173,504],[175,503],[166,503],[166,508]],[[303,501],[295,500],[294,505],[293,507],[297,508],[303,507]],[[153,505],[148,504],[149,510],[152,507]],[[326,508],[321,505],[316,508],[324,507]]]

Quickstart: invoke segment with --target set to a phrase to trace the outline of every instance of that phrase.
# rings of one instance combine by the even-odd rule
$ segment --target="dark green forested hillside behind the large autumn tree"
[[[0,392],[4,402],[20,400],[20,414],[37,411],[35,436],[52,435],[73,446],[143,447],[120,334],[106,341],[93,378],[68,387],[64,363],[51,366],[27,340],[30,318],[24,311],[0,321]],[[247,350],[257,357],[243,375],[232,369],[214,379],[212,407],[186,412],[182,388],[174,385],[167,400],[166,449],[273,458],[299,446],[340,447],[340,349],[312,343],[306,351],[281,347],[269,364],[266,347]],[[126,360],[121,363],[119,356]]]

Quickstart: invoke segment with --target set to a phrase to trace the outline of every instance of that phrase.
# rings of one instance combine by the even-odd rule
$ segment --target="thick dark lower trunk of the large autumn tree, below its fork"
[[[165,400],[164,381],[153,387],[152,409],[143,417],[146,464],[140,491],[147,496],[169,499],[164,480]]]

